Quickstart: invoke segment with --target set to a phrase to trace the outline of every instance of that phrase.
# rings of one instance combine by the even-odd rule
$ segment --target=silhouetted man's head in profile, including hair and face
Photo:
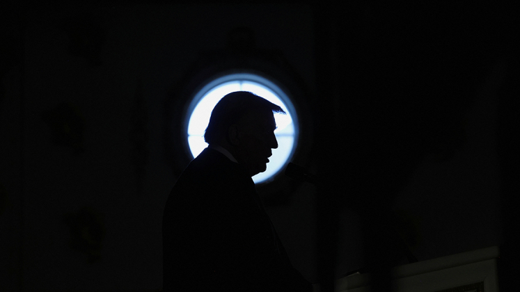
[[[273,113],[285,111],[251,92],[231,92],[213,108],[205,141],[226,148],[249,175],[264,172],[271,149],[278,147]]]

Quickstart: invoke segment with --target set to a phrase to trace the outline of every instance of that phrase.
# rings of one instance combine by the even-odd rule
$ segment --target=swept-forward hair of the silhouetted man
[[[285,113],[280,106],[269,102],[249,91],[235,91],[222,97],[213,108],[210,123],[204,133],[204,140],[208,144],[218,143],[225,137],[232,124],[249,111],[272,111],[272,113]]]

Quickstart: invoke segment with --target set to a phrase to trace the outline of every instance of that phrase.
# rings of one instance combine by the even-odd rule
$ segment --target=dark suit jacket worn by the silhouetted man
[[[164,291],[312,291],[295,270],[244,168],[207,148],[163,216]]]

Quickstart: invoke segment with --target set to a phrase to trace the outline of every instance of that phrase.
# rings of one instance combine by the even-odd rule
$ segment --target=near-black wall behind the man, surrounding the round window
[[[320,278],[317,248],[331,250],[324,263],[339,277],[393,245],[365,232],[390,230],[378,223],[388,218],[395,232],[379,234],[399,234],[419,261],[501,243],[497,92],[508,61],[492,21],[478,21],[484,7],[3,11],[0,279],[10,291],[160,288],[162,208],[178,168],[165,107],[237,26],[259,51],[283,56],[313,103],[316,134],[300,142],[313,145],[302,159],[326,184],[295,184],[282,201],[262,190],[310,282]],[[324,210],[336,216],[317,220]]]

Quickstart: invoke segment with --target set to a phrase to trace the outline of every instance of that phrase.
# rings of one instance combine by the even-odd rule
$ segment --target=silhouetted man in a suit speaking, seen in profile
[[[278,147],[274,113],[285,112],[251,92],[216,104],[209,146],[182,172],[164,209],[164,291],[312,291],[251,179]]]

